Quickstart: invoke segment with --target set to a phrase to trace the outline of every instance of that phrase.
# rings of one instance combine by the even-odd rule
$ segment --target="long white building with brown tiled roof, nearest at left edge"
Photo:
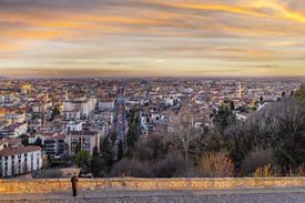
[[[8,177],[41,169],[41,148],[12,146],[0,151],[0,176]]]

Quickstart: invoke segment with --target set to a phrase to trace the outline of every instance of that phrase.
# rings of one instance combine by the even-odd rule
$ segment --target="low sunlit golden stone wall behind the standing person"
[[[241,179],[80,179],[79,190],[206,190],[305,186],[304,177]],[[0,180],[0,192],[71,191],[70,179]]]

